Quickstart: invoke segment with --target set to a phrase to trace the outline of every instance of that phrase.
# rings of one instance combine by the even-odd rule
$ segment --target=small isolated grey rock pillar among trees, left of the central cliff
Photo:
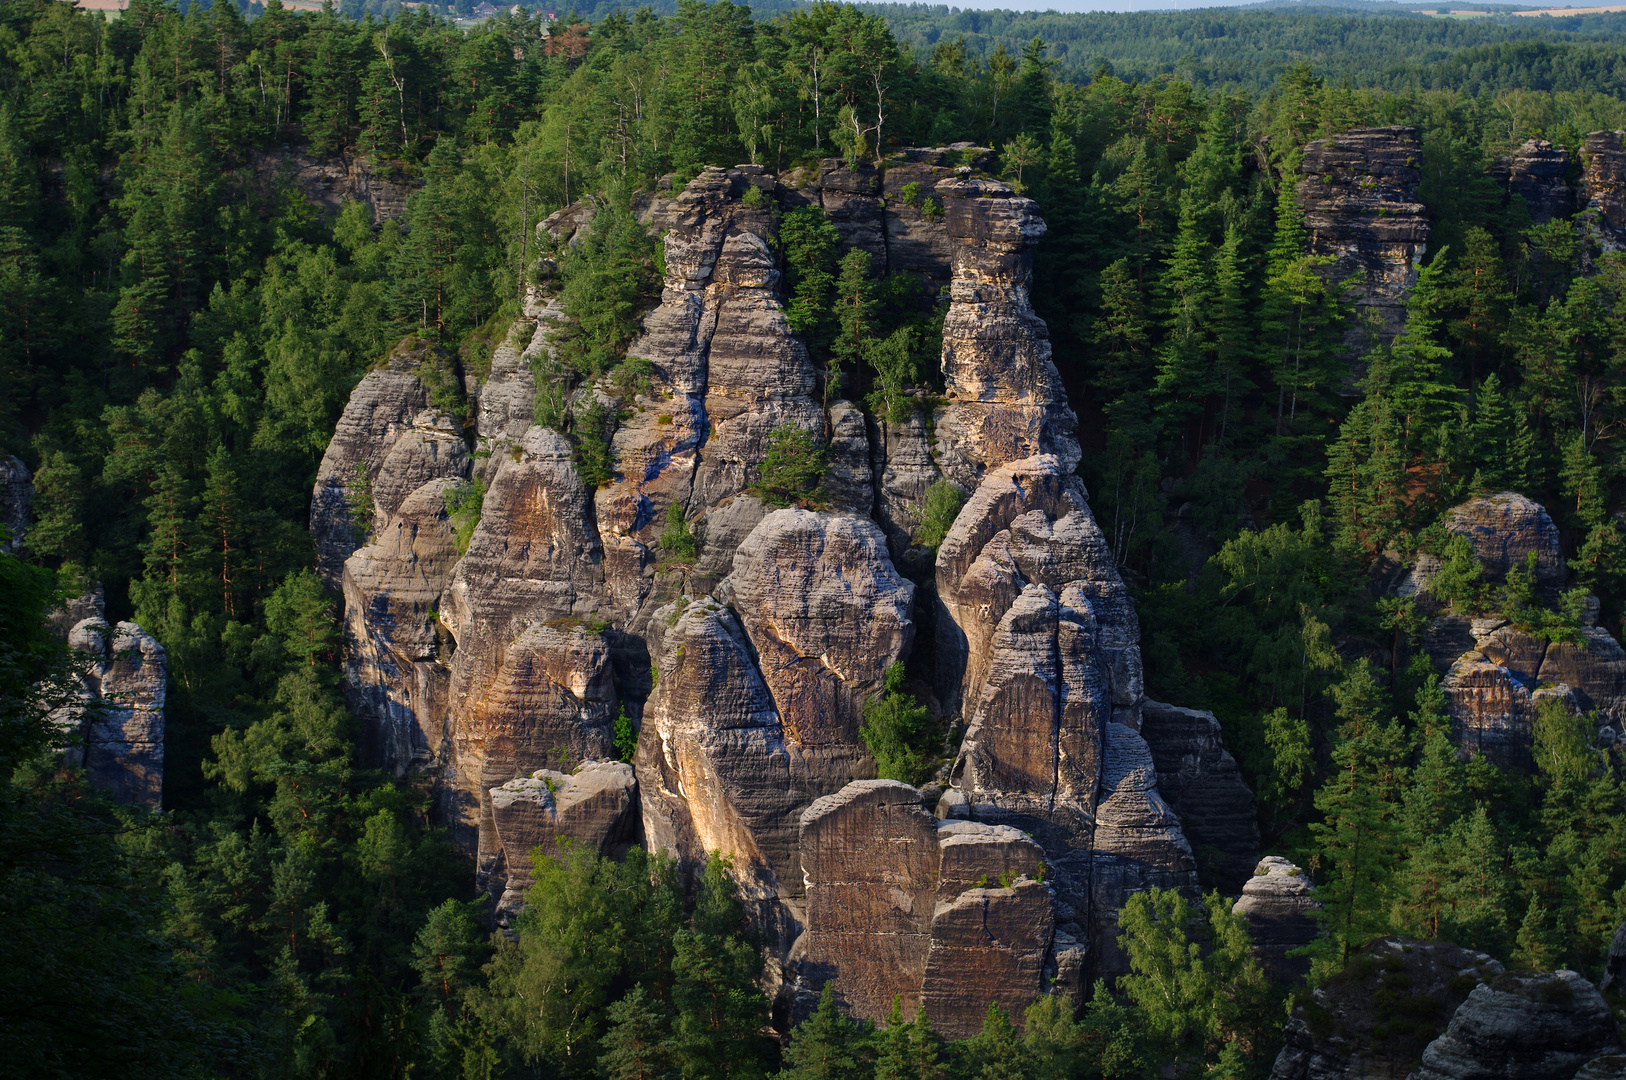
[[[164,704],[169,657],[135,623],[81,621],[68,646],[88,654],[86,708],[72,758],[91,784],[132,807],[158,807],[164,789]]]

